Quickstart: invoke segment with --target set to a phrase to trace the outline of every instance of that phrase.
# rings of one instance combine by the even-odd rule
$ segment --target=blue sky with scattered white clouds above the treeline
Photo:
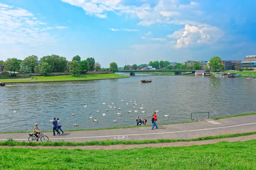
[[[0,60],[243,60],[256,55],[255,11],[254,0],[0,0]]]

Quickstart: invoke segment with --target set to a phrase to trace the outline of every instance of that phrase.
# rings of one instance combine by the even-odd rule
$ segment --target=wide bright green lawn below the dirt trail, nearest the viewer
[[[0,169],[255,169],[256,140],[126,150],[0,149]]]

